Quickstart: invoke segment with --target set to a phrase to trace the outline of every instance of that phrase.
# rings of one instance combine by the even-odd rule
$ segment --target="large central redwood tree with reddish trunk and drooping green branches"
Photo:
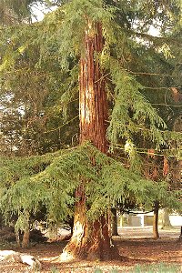
[[[15,3],[13,0],[8,2],[12,4]],[[19,0],[17,0],[17,2],[26,3],[26,1],[19,2]],[[67,101],[72,101],[72,98],[76,95],[77,82],[75,78],[77,78],[79,74],[80,145],[89,141],[98,150],[106,154],[108,150],[106,141],[107,130],[107,136],[111,144],[113,146],[118,143],[120,144],[122,140],[122,144],[126,143],[126,152],[129,154],[130,159],[133,160],[133,162],[135,159],[136,162],[135,142],[138,136],[141,135],[144,139],[148,138],[150,141],[158,143],[158,145],[163,144],[163,135],[161,135],[159,129],[166,128],[166,125],[160,116],[158,116],[156,109],[148,102],[144,87],[147,86],[147,88],[150,88],[150,86],[152,86],[153,90],[153,87],[156,88],[155,86],[160,86],[159,82],[161,79],[157,77],[157,79],[160,79],[159,82],[157,82],[155,78],[151,81],[147,81],[146,79],[144,80],[143,77],[141,78],[141,76],[147,74],[151,77],[157,76],[158,70],[155,70],[157,69],[156,61],[152,63],[152,61],[150,62],[149,60],[153,60],[154,56],[154,59],[156,59],[161,52],[164,52],[166,56],[170,55],[170,52],[167,52],[167,45],[166,43],[164,44],[163,38],[157,37],[156,39],[156,37],[148,35],[147,30],[151,24],[157,22],[157,27],[159,27],[159,23],[162,22],[162,31],[165,31],[166,25],[168,33],[170,25],[172,25],[173,22],[177,24],[176,13],[179,14],[179,12],[176,12],[175,8],[173,10],[173,8],[164,3],[164,1],[153,0],[148,1],[147,4],[145,1],[136,0],[33,1],[33,3],[36,2],[55,3],[60,6],[54,12],[45,16],[43,23],[33,24],[31,27],[25,25],[25,34],[24,29],[21,29],[21,31],[18,29],[18,31],[16,31],[17,37],[20,35],[25,46],[20,46],[19,38],[17,39],[18,45],[13,46],[15,44],[15,35],[12,40],[11,38],[5,37],[5,41],[8,41],[8,43],[6,42],[8,50],[5,55],[5,60],[1,58],[1,60],[4,61],[0,67],[1,70],[6,68],[8,77],[15,76],[15,74],[12,73],[15,61],[19,64],[19,58],[21,59],[26,56],[26,50],[28,52],[28,47],[31,43],[34,46],[38,45],[36,50],[40,49],[40,58],[35,61],[34,70],[37,69],[38,76],[41,75],[41,73],[39,73],[41,69],[45,68],[45,71],[43,69],[43,75],[47,75],[49,85],[53,85],[50,89],[55,91],[56,88],[57,94],[59,93],[57,97],[59,106],[60,100],[62,106],[67,106],[66,104],[64,105],[63,95],[65,95],[66,103]],[[63,5],[64,2],[66,5]],[[174,5],[175,2],[178,3],[178,0],[173,1]],[[28,3],[30,4],[32,1],[28,1]],[[178,11],[178,4],[176,7]],[[171,11],[171,13],[169,11]],[[174,17],[172,17],[173,14],[175,15]],[[21,27],[22,25],[19,26]],[[29,35],[33,38],[30,39]],[[9,41],[12,41],[12,43],[9,43]],[[146,41],[147,46],[145,47],[144,42]],[[140,42],[142,42],[142,44],[140,44]],[[30,46],[29,49],[31,52],[34,46]],[[15,54],[11,55],[11,51],[14,50]],[[6,56],[15,58],[12,64],[11,58],[10,60],[8,58],[6,59]],[[51,70],[51,66],[49,66],[50,60],[54,62],[54,75],[59,77],[59,79],[61,75],[64,76],[61,84],[60,80],[57,81],[55,76],[51,77],[49,73],[49,69]],[[150,66],[151,63],[153,66]],[[78,73],[76,70],[77,66],[79,67]],[[148,69],[149,67],[150,69]],[[8,69],[11,69],[11,73],[9,73]],[[16,66],[14,69],[15,71],[19,71]],[[154,71],[152,69],[154,69]],[[142,71],[144,71],[144,73]],[[149,73],[147,73],[148,71]],[[110,86],[108,82],[106,82],[107,74],[109,75],[108,80]],[[69,78],[66,79],[65,82],[66,76],[69,76]],[[15,82],[15,78],[13,78],[13,80]],[[67,81],[69,82],[68,85]],[[19,83],[19,80],[16,82]],[[148,86],[149,84],[150,86]],[[109,109],[111,111],[109,111],[108,129],[106,128],[106,122],[108,121],[106,89],[109,90],[109,95],[111,95],[110,97],[112,97],[113,100],[112,105],[110,105],[112,109]],[[37,86],[35,90],[40,92],[39,86]],[[50,100],[52,100],[51,95],[55,97],[56,93],[50,94]],[[167,138],[167,134],[164,133],[164,135]],[[70,152],[70,154],[72,153]],[[84,174],[81,172],[83,168],[80,168],[80,171],[78,165],[75,165],[74,160],[76,160],[77,156],[75,155],[75,157],[73,157],[74,160],[70,163],[69,155],[67,152],[66,157],[56,158],[54,164],[51,164],[50,167],[46,167],[45,171],[43,171],[40,176],[33,177],[33,180],[29,179],[29,177],[26,181],[20,179],[19,184],[15,183],[15,193],[18,185],[20,193],[22,194],[22,187],[26,186],[25,183],[29,185],[28,183],[31,182],[30,187],[25,187],[25,193],[31,192],[32,200],[34,202],[36,201],[36,203],[32,204],[30,202],[30,195],[25,199],[24,194],[23,199],[25,200],[25,204],[21,204],[21,206],[23,208],[25,206],[26,209],[27,202],[29,201],[29,210],[31,211],[31,209],[37,208],[37,204],[39,205],[39,202],[41,202],[41,204],[45,204],[47,215],[51,221],[55,219],[55,222],[57,221],[57,223],[59,223],[59,216],[62,215],[63,219],[65,219],[67,213],[66,207],[73,204],[73,200],[71,197],[68,198],[67,192],[69,192],[69,187],[71,187],[71,189],[74,188],[73,191],[70,190],[71,194],[76,191],[73,236],[66,248],[64,248],[61,259],[110,258],[112,248],[110,246],[106,212],[107,207],[110,207],[110,197],[112,197],[114,204],[115,201],[121,197],[122,192],[124,192],[124,185],[127,186],[127,184],[130,191],[141,194],[139,189],[142,184],[137,187],[136,184],[139,177],[136,177],[134,174],[132,178],[132,174],[128,174],[124,167],[122,167],[122,172],[119,171],[116,173],[116,168],[118,168],[118,165],[121,167],[121,162],[115,160],[116,168],[114,167],[113,172],[110,172],[111,169],[109,169],[108,173],[105,174],[106,176],[103,176],[104,178],[99,178],[102,183],[107,177],[106,183],[109,187],[106,188],[106,191],[104,191],[102,187],[103,184],[100,185],[100,188],[102,187],[101,189],[99,188],[97,190],[96,188],[97,198],[106,195],[108,200],[106,203],[107,207],[102,211],[102,207],[105,204],[104,202],[103,204],[100,202],[98,207],[96,207],[97,210],[93,209],[99,213],[99,216],[95,215],[95,217],[91,218],[89,217],[89,209],[92,206],[93,200],[91,194],[87,195],[86,192],[86,188],[92,188],[90,187],[92,183],[91,178],[89,180],[89,178],[84,177]],[[93,173],[96,176],[95,182],[97,183],[97,174],[100,166],[96,166],[96,158],[92,153],[90,153],[89,156],[86,154],[86,159],[87,158],[88,160],[86,162],[88,162],[89,166],[90,163],[92,164],[93,168],[90,169],[94,169]],[[108,164],[106,167],[110,167],[110,165]],[[137,168],[136,164],[133,164],[133,167],[135,173]],[[87,177],[89,177],[89,175],[92,177],[90,173]],[[114,176],[115,179],[113,179]],[[136,183],[133,184],[134,187],[131,187],[131,180],[133,183]],[[114,187],[114,181],[118,184],[118,187],[116,187],[116,184]],[[144,188],[147,189],[146,181],[143,182]],[[95,187],[97,186],[96,183]],[[32,185],[35,185],[35,194]],[[40,187],[39,195],[37,194],[37,187]],[[27,191],[27,188],[29,188],[29,191]],[[65,193],[63,188],[66,188]],[[114,194],[112,193],[113,188],[116,189]],[[50,194],[51,190],[52,195]],[[47,198],[46,195],[43,194],[44,192]],[[91,190],[88,192],[90,193]],[[142,190],[142,193],[145,193],[145,190]],[[11,190],[9,194],[12,194]],[[6,197],[8,200],[6,204],[14,200],[13,198],[8,198],[8,195],[6,195]],[[38,199],[35,200],[35,197]],[[51,199],[51,197],[54,199]],[[101,199],[101,201],[103,199]],[[17,199],[17,207],[22,214],[22,207],[19,207],[19,203],[20,201]],[[13,208],[10,207],[9,210],[15,209],[16,212],[17,209],[15,205],[13,204],[12,206]],[[35,209],[33,209],[33,211],[35,211]]]

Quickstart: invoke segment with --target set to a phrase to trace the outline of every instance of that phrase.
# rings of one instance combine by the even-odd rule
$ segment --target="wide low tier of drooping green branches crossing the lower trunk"
[[[23,167],[28,166],[27,173],[20,171],[22,176],[16,177],[16,182],[1,194],[3,215],[8,218],[16,213],[18,227],[25,226],[27,212],[35,215],[42,206],[46,208],[47,222],[59,223],[72,216],[74,193],[83,179],[86,181],[87,216],[91,220],[105,213],[108,207],[115,207],[116,202],[130,198],[135,198],[139,207],[151,208],[155,200],[159,200],[162,207],[180,207],[178,196],[171,195],[167,183],[141,178],[89,144],[61,151],[52,157],[48,155],[45,161],[42,157],[38,159],[39,162],[35,157],[27,158],[25,162],[22,158],[19,162],[24,163]],[[40,168],[33,173],[35,162]],[[48,166],[41,171],[43,162]],[[16,162],[18,171],[17,166]]]

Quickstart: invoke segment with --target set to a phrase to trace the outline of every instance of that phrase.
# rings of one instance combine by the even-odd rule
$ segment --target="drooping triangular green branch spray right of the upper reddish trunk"
[[[131,138],[131,133],[136,131],[137,127],[149,124],[151,140],[156,140],[158,144],[164,144],[163,137],[157,127],[166,128],[167,126],[158,116],[157,111],[139,92],[142,86],[136,82],[133,76],[122,70],[116,61],[111,64],[111,76],[116,86],[116,103],[108,127],[111,143],[117,143],[117,136]]]

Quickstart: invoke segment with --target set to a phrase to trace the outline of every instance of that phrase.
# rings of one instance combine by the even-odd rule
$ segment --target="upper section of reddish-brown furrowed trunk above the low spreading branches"
[[[92,31],[92,26],[91,30]],[[86,52],[80,60],[79,109],[80,144],[91,141],[99,150],[106,153],[107,102],[105,78],[96,54],[103,48],[102,26],[96,24],[96,34],[87,34]]]

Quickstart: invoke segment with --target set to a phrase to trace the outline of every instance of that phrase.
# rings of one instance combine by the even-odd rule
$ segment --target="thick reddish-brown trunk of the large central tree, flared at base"
[[[100,151],[106,153],[105,78],[96,60],[96,55],[103,49],[102,25],[90,22],[87,22],[87,25],[85,53],[80,60],[79,75],[80,144],[90,141]],[[86,183],[90,182],[81,178],[81,185],[76,190],[73,236],[61,255],[62,260],[104,259],[110,256],[107,217],[102,216],[95,221],[90,221],[86,217]]]

